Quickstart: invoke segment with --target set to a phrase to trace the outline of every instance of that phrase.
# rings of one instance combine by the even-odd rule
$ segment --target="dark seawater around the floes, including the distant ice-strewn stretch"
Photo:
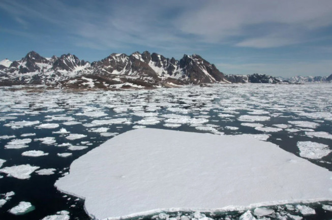
[[[279,87],[278,87],[279,86]],[[291,87],[292,86],[292,87]],[[61,90],[50,90],[43,92],[27,92],[28,90],[0,89],[0,136],[11,136],[15,138],[0,139],[0,159],[6,160],[1,168],[14,165],[30,164],[39,166],[41,169],[54,168],[52,175],[31,174],[29,179],[17,179],[7,177],[7,174],[0,173],[0,194],[15,192],[6,204],[0,208],[0,219],[42,219],[47,215],[55,214],[57,211],[67,210],[70,212],[70,219],[90,219],[84,211],[84,201],[73,196],[63,194],[56,190],[54,182],[69,171],[70,164],[85,154],[89,150],[98,147],[101,143],[112,137],[103,137],[100,133],[89,131],[106,127],[108,133],[122,134],[130,131],[135,125],[145,125],[148,128],[171,129],[177,131],[206,133],[209,131],[197,130],[193,124],[182,124],[178,128],[167,128],[164,126],[167,118],[164,114],[179,114],[184,116],[207,117],[207,127],[215,128],[225,135],[237,134],[269,134],[268,142],[280,146],[282,149],[299,156],[298,141],[312,141],[326,144],[332,148],[332,139],[309,137],[306,131],[288,132],[285,129],[279,132],[264,133],[252,127],[246,127],[241,123],[248,121],[237,120],[240,115],[248,115],[253,110],[264,110],[268,113],[257,116],[270,116],[269,120],[254,121],[252,123],[262,123],[265,127],[273,127],[273,124],[288,124],[291,120],[301,120],[316,122],[319,125],[313,130],[315,132],[332,132],[332,117],[317,116],[308,117],[299,115],[301,113],[321,113],[332,111],[332,84],[320,85],[218,85],[212,88],[186,87],[179,89],[156,89],[139,91],[86,91],[86,92],[66,92]],[[305,93],[305,94],[304,94]],[[151,108],[155,107],[157,108]],[[123,109],[118,109],[123,108]],[[177,108],[172,109],[172,108]],[[233,108],[233,109],[231,109]],[[180,109],[180,110],[178,110]],[[78,113],[101,111],[106,115],[91,117],[86,115],[76,115]],[[223,112],[226,111],[226,112]],[[227,111],[233,111],[227,113]],[[133,113],[145,112],[155,113],[157,124],[139,124],[146,117],[133,115]],[[231,114],[234,117],[219,117],[219,114]],[[80,124],[64,125],[67,120],[50,120],[51,116],[72,116]],[[4,117],[12,116],[15,119]],[[157,118],[156,118],[157,117]],[[128,123],[115,123],[86,127],[84,124],[94,120],[108,120],[112,118],[127,118]],[[55,129],[39,129],[36,125],[12,128],[5,124],[15,121],[40,121],[42,123],[58,123]],[[238,130],[228,130],[225,127],[237,127]],[[83,134],[87,137],[77,140],[67,140],[68,134],[53,134],[65,128],[71,134]],[[291,125],[290,128],[299,128]],[[301,128],[310,129],[310,128]],[[21,134],[36,133],[36,136],[20,137]],[[214,132],[212,132],[214,133]],[[54,137],[56,143],[43,144],[39,140],[44,137]],[[28,147],[21,149],[5,149],[5,145],[12,139],[31,138],[32,142]],[[84,143],[84,142],[87,143]],[[83,142],[83,143],[81,143]],[[83,150],[69,150],[67,147],[56,145],[70,143],[72,145],[86,145]],[[21,153],[27,150],[42,150],[49,153],[47,156],[37,158],[22,156]],[[71,156],[61,158],[57,153],[71,152]],[[310,162],[332,171],[332,153],[321,159],[307,159]],[[2,199],[2,197],[0,197]],[[35,210],[23,214],[13,215],[9,209],[17,205],[20,201],[31,202]],[[288,210],[285,205],[270,206],[275,213],[265,216],[269,219],[291,219],[287,214],[302,216],[303,219],[332,219],[332,211],[322,209],[322,204],[332,205],[332,202],[319,202],[306,204],[315,209],[316,214],[301,215],[298,210]],[[296,204],[294,204],[296,205]],[[169,217],[179,215],[191,216],[193,213],[167,213]],[[213,219],[237,219],[243,212],[223,212],[204,213]],[[157,219],[156,216],[144,216],[140,219]],[[268,219],[266,218],[266,219]]]

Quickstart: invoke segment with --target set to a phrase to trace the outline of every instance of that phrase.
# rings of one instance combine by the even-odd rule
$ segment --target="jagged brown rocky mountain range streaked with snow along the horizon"
[[[73,54],[45,58],[31,51],[20,60],[0,61],[0,86],[119,89],[238,82],[282,83],[283,79],[262,74],[224,75],[197,54],[185,54],[176,60],[148,51],[131,55],[112,53],[90,63]]]

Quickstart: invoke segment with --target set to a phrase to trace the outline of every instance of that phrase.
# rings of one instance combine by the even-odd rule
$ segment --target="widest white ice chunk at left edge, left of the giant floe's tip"
[[[6,173],[8,174],[7,176],[12,176],[17,179],[28,179],[30,178],[30,174],[37,169],[39,169],[39,167],[26,164],[26,165],[12,166],[12,167],[4,167],[0,169],[0,172]]]

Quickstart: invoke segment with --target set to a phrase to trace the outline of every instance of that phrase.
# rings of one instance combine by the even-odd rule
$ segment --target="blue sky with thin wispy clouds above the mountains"
[[[199,54],[225,74],[328,76],[332,1],[2,0],[0,48],[0,60],[148,50]]]

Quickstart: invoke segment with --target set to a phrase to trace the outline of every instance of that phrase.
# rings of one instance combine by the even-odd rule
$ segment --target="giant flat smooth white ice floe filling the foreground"
[[[90,216],[119,219],[331,200],[331,177],[273,143],[244,135],[136,129],[75,160],[55,185],[84,198]]]

